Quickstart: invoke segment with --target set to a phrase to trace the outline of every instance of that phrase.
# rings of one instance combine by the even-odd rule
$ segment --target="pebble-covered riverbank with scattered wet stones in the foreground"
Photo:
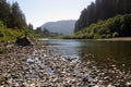
[[[0,53],[1,87],[130,87],[131,72],[52,55],[43,45],[8,46]]]

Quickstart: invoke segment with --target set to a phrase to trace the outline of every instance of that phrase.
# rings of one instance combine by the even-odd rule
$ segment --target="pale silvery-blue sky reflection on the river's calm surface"
[[[78,57],[82,46],[82,42],[76,40],[47,40],[46,42],[47,48],[53,49],[55,54],[69,58]]]

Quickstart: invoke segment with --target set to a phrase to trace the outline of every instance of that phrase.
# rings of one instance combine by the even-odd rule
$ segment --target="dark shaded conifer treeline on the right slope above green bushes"
[[[131,13],[131,0],[96,0],[82,11],[74,32],[88,27],[98,20],[126,13]]]

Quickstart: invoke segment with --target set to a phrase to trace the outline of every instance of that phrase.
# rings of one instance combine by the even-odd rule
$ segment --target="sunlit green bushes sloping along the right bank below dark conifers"
[[[68,38],[97,39],[131,37],[131,14],[117,15],[106,21],[98,21]],[[67,38],[67,37],[64,37]]]

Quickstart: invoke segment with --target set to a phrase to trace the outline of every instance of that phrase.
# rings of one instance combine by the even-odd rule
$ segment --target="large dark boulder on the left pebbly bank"
[[[32,40],[29,39],[29,37],[26,37],[26,36],[22,36],[22,37],[19,37],[15,41],[15,44],[17,46],[32,46],[33,42]]]

